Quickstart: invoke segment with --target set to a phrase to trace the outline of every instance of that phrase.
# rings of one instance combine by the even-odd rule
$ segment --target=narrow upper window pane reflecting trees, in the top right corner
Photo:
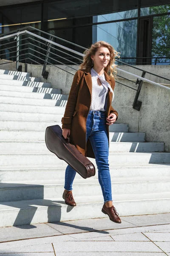
[[[170,12],[170,4],[141,8],[140,15],[147,16],[147,15],[166,13],[166,12]]]

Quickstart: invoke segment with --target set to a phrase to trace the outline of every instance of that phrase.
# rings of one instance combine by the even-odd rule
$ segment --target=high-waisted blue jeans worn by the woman
[[[98,169],[99,183],[102,188],[104,202],[112,201],[111,175],[109,171],[108,134],[106,130],[106,113],[103,111],[89,111],[86,122],[86,142],[90,140],[96,165]],[[65,186],[68,191],[72,190],[72,184],[76,171],[67,166],[65,170]]]

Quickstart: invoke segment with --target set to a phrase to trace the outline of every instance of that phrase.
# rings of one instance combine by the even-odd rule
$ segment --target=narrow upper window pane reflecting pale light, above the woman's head
[[[104,15],[97,15],[93,17],[93,22],[106,22],[111,20],[124,20],[138,16],[138,9],[129,10],[125,12],[109,13]]]

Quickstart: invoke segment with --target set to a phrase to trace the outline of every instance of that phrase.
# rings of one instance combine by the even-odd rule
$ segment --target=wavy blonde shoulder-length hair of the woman
[[[111,44],[108,44],[105,41],[98,41],[98,42],[92,44],[90,48],[85,50],[85,52],[84,52],[85,56],[83,57],[82,64],[80,64],[80,68],[86,69],[88,67],[93,67],[94,64],[92,62],[91,56],[95,55],[95,53],[97,52],[99,47],[106,47],[109,49],[110,60],[109,60],[107,67],[105,67],[104,70],[109,76],[116,77],[117,65],[115,64],[115,57],[120,58],[120,56],[119,56],[120,52],[116,52],[115,49],[113,48],[113,46],[111,46]]]

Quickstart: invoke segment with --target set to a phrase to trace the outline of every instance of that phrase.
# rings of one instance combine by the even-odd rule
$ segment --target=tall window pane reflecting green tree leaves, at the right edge
[[[170,15],[153,17],[152,57],[170,56]],[[153,62],[155,59],[153,59]],[[165,62],[165,63],[164,63]],[[157,63],[166,64],[170,59],[157,59]]]

